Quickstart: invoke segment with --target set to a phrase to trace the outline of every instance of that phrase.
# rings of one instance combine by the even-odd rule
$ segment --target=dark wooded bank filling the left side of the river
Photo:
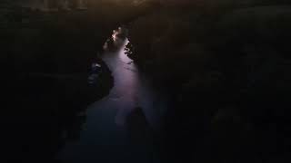
[[[0,32],[5,83],[1,159],[55,162],[55,153],[65,142],[78,139],[87,106],[113,87],[111,72],[96,54],[132,10],[112,14],[111,9],[98,8],[40,12],[9,3],[5,7],[9,10],[1,10]],[[87,83],[93,62],[102,67],[95,86]]]

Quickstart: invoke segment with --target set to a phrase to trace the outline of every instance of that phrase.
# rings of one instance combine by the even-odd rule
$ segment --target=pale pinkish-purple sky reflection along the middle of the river
[[[126,116],[138,105],[138,69],[134,63],[128,64],[132,60],[125,55],[124,48],[116,53],[106,53],[103,59],[115,77],[115,86],[107,98],[118,103],[115,122],[124,125]]]

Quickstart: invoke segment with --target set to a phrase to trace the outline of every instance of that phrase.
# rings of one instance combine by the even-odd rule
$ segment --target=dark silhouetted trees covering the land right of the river
[[[130,57],[173,96],[167,162],[290,161],[290,3],[199,2],[130,26]]]

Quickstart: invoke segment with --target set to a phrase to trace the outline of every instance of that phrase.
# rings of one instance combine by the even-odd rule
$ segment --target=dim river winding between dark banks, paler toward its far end
[[[151,87],[124,49],[103,53],[114,87],[88,107],[80,139],[66,142],[58,156],[64,162],[161,162],[156,136],[163,127],[166,98]]]

